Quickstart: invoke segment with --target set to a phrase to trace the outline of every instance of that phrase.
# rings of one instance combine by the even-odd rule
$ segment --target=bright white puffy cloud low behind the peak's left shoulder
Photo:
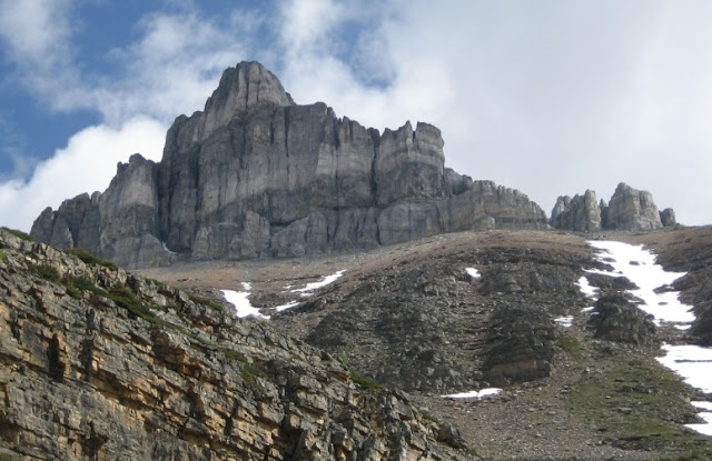
[[[166,126],[136,117],[119,129],[89,127],[72,136],[65,149],[40,162],[28,182],[13,180],[0,184],[2,226],[29,231],[40,212],[57,209],[80,193],[103,191],[116,174],[117,162],[130,154],[160,160]]]

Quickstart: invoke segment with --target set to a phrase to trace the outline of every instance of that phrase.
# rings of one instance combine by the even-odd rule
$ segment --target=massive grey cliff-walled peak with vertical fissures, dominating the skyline
[[[136,268],[547,227],[521,192],[444,168],[443,146],[427,123],[379,133],[322,102],[297,106],[243,62],[202,112],[176,119],[159,163],[132,157],[105,193],[44,210],[31,233]]]

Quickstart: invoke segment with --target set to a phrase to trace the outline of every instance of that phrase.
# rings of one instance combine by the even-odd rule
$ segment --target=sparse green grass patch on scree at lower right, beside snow
[[[625,449],[712,450],[712,440],[682,425],[689,388],[672,372],[643,360],[623,361],[606,373],[590,373],[568,395],[570,410]],[[676,422],[675,422],[676,421]]]

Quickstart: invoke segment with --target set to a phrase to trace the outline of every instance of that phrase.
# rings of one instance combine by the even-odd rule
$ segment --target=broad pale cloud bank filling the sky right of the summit
[[[355,17],[346,3],[320,2],[283,28],[280,77],[298,102],[324,100],[380,129],[434,123],[448,166],[547,212],[560,194],[591,188],[607,200],[625,181],[681,222],[712,222],[712,4],[388,6],[356,59],[333,44]],[[355,66],[369,60],[385,86],[359,78]]]

